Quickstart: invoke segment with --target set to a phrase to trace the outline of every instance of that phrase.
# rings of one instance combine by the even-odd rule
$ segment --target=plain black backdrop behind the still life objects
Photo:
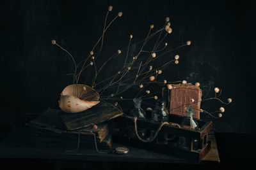
[[[200,82],[203,97],[207,90],[223,89],[221,99],[233,99],[224,106],[223,117],[214,120],[217,132],[255,132],[253,122],[253,78],[255,46],[255,4],[239,1],[7,1],[1,4],[1,124],[22,124],[25,113],[58,108],[58,97],[72,83],[70,58],[51,40],[66,48],[77,61],[88,55],[102,33],[108,6],[111,17],[123,16],[109,28],[102,53],[109,56],[132,41],[143,39],[149,25],[163,26],[170,17],[169,48],[184,44],[176,52],[180,63],[164,69],[159,77],[169,81]],[[173,57],[175,53],[168,56]],[[103,59],[102,59],[103,60]],[[162,61],[166,62],[166,58]],[[115,68],[120,60],[108,67]],[[111,69],[104,71],[111,74]],[[159,90],[159,89],[153,89]],[[128,105],[131,103],[127,103]],[[221,103],[203,103],[209,111]]]

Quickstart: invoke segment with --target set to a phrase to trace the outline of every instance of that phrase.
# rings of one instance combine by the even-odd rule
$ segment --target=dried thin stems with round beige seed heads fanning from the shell
[[[115,74],[113,74],[112,76],[109,76],[104,80],[98,81],[100,73],[102,73],[102,70],[104,67],[106,67],[106,64],[109,61],[115,59],[115,57],[118,57],[119,55],[123,54],[122,53],[123,51],[125,52],[124,49],[117,49],[115,50],[116,52],[113,53],[113,55],[111,55],[110,57],[108,57],[108,59],[106,59],[106,61],[101,66],[97,66],[97,58],[100,56],[100,52],[102,52],[102,46],[104,45],[104,35],[106,34],[106,31],[115,22],[115,20],[117,18],[122,17],[122,14],[123,14],[122,12],[118,12],[117,15],[113,17],[113,19],[108,23],[108,17],[111,14],[112,10],[113,10],[113,6],[109,6],[108,11],[106,13],[106,17],[104,19],[104,27],[103,27],[103,31],[100,38],[97,40],[97,42],[93,46],[90,53],[88,53],[88,57],[86,57],[83,61],[79,62],[79,64],[76,64],[76,60],[74,59],[74,57],[62,46],[56,43],[56,40],[52,40],[52,45],[57,45],[58,47],[61,48],[61,50],[64,50],[66,53],[68,53],[68,55],[72,59],[72,62],[74,63],[74,73],[70,73],[73,76],[73,83],[79,83],[80,82],[79,80],[81,79],[81,74],[83,73],[83,71],[90,68],[90,71],[93,70],[92,74],[94,74],[92,78],[91,87],[97,90],[97,92],[99,92],[100,99],[104,101],[132,100],[132,99],[126,99],[125,97],[121,96],[123,92],[131,89],[131,87],[139,90],[139,92],[135,97],[139,97],[141,95],[141,92],[143,92],[145,94],[142,94],[140,97],[143,98],[144,100],[145,99],[156,100],[158,99],[156,94],[159,92],[150,93],[150,90],[146,89],[148,85],[152,83],[156,83],[157,85],[167,86],[168,89],[171,90],[172,89],[171,83],[187,83],[186,80],[174,81],[174,82],[170,82],[167,80],[157,80],[157,76],[163,73],[164,68],[166,68],[170,64],[179,64],[179,58],[180,58],[179,55],[174,55],[172,59],[170,59],[168,62],[164,63],[161,66],[157,66],[156,68],[152,66],[153,63],[160,57],[164,57],[166,54],[173,52],[179,48],[182,48],[184,46],[191,45],[191,41],[186,41],[186,43],[184,43],[183,45],[177,46],[177,48],[167,49],[168,43],[164,42],[164,39],[169,34],[172,33],[169,17],[166,17],[164,25],[160,29],[154,30],[154,25],[150,25],[147,36],[143,40],[137,43],[132,44],[133,36],[129,35],[128,46],[124,48],[127,50],[126,50],[126,53],[124,53],[125,59],[124,59],[124,64],[122,64],[122,67],[118,69],[115,72]],[[151,50],[145,50],[145,47],[150,44],[148,43],[148,41],[155,36],[157,36],[157,40],[154,41],[153,43],[154,46],[150,48]],[[140,50],[138,51],[138,53],[136,53],[136,55],[129,56],[129,50],[132,45],[141,45],[141,46],[140,46]],[[96,51],[95,49],[97,46],[99,47],[99,50]],[[89,72],[90,74],[90,71],[86,71],[86,73]],[[199,85],[200,83],[195,83],[196,87],[199,87]],[[214,91],[215,91],[215,97],[204,99],[202,101],[207,101],[210,99],[217,99],[218,101],[221,101],[218,98],[220,95],[216,96],[216,94],[219,92],[221,94],[221,90],[218,88],[215,88]],[[191,103],[184,104],[184,105],[190,106],[190,104],[193,104],[196,102],[202,102],[202,101],[192,100]],[[228,99],[228,103],[223,103],[223,101],[221,101],[221,103],[229,104],[231,103],[231,101],[232,99]],[[115,105],[116,104],[117,103],[115,103]],[[216,118],[212,114],[218,112],[219,113],[218,117],[222,117],[221,113],[224,112],[224,108],[221,107],[219,111],[214,111],[211,113],[200,109],[200,112],[207,113],[212,117]]]

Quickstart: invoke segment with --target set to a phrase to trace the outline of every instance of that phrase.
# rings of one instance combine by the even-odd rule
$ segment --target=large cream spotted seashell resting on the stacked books
[[[66,113],[78,113],[98,104],[99,94],[88,85],[68,85],[61,92],[59,106]]]

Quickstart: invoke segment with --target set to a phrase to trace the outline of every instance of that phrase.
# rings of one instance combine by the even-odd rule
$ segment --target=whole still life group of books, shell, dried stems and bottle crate
[[[60,94],[60,110],[45,111],[42,116],[29,122],[29,127],[35,134],[51,136],[54,141],[51,146],[58,147],[58,141],[65,139],[65,146],[74,148],[67,152],[78,152],[81,147],[92,148],[93,145],[99,153],[112,153],[112,141],[115,138],[116,143],[124,145],[129,143],[154,152],[202,159],[211,149],[207,138],[212,122],[201,120],[200,114],[218,119],[223,116],[225,108],[209,112],[200,108],[200,105],[209,100],[230,104],[232,99],[222,101],[219,87],[212,89],[215,94],[213,97],[202,99],[203,90],[199,82],[192,84],[186,80],[159,78],[159,74],[163,74],[167,67],[179,64],[180,56],[178,53],[173,55],[173,52],[179,48],[189,48],[192,43],[186,41],[176,48],[168,48],[164,39],[172,34],[169,17],[165,18],[163,27],[159,29],[149,25],[147,36],[139,42],[132,41],[132,34],[127,36],[127,46],[113,49],[113,55],[99,64],[99,58],[104,55],[102,47],[105,34],[122,14],[118,12],[113,16],[113,6],[108,7],[99,40],[79,63],[58,41],[51,41],[72,60],[74,72],[70,75],[73,83],[67,85]],[[152,39],[154,42],[149,43]],[[134,50],[134,44],[140,48]],[[122,57],[122,64],[107,67],[116,57]],[[159,64],[163,57],[170,60]],[[115,69],[114,74],[107,78],[100,77],[106,69]],[[159,90],[150,91],[150,85],[157,85]],[[134,97],[126,97],[131,89]],[[143,108],[143,103],[148,100],[154,104]],[[127,109],[121,102],[132,103],[133,107]],[[51,117],[51,123],[47,122],[45,115]],[[53,120],[54,116],[58,118]],[[38,137],[38,141],[42,140]],[[123,154],[128,151],[120,147],[115,150]]]

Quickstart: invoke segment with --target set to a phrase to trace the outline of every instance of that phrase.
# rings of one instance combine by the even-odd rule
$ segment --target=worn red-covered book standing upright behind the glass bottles
[[[186,117],[186,107],[195,108],[194,118],[200,118],[200,104],[202,101],[202,90],[191,83],[172,84],[173,89],[166,87],[162,90],[163,99],[169,113]]]

